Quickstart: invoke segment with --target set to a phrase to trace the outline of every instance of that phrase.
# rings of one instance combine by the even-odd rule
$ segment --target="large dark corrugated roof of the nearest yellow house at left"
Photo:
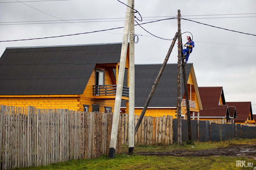
[[[6,48],[0,95],[82,94],[96,64],[120,62],[121,43]]]

